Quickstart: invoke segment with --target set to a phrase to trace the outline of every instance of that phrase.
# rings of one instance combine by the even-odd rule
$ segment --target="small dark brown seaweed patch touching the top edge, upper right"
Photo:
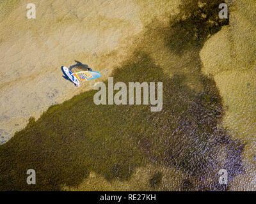
[[[170,21],[166,46],[171,52],[182,55],[189,49],[201,49],[207,37],[228,25],[228,19],[219,18],[221,0],[183,0],[177,19]]]

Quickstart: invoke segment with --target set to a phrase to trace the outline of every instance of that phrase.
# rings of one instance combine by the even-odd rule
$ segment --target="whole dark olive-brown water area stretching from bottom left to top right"
[[[92,172],[122,186],[134,182],[140,168],[141,177],[150,175],[138,182],[147,184],[142,190],[230,189],[218,183],[218,171],[227,170],[230,181],[244,173],[244,143],[223,128],[227,107],[213,78],[201,72],[202,46],[228,24],[215,18],[221,1],[207,3],[201,9],[188,1],[168,25],[154,20],[112,74],[125,84],[163,82],[161,112],[148,105],[96,106],[95,91],[52,106],[0,147],[1,190],[83,189]],[[28,166],[38,172],[35,187],[23,182]],[[177,177],[173,184],[169,174]]]

